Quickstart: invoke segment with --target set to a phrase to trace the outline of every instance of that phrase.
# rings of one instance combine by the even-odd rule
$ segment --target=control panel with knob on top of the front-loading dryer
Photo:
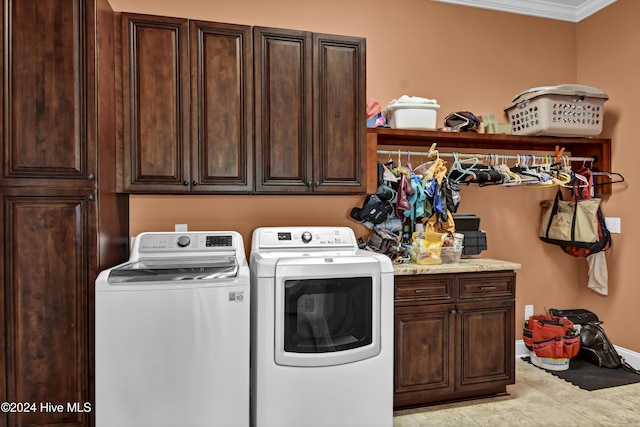
[[[260,248],[357,247],[349,227],[265,227],[254,232]]]

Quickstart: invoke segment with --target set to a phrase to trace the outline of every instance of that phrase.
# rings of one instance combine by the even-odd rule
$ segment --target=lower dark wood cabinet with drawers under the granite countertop
[[[395,276],[394,408],[506,393],[515,272]]]

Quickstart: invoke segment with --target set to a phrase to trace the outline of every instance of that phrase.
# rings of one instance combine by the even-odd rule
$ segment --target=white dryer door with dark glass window
[[[275,277],[275,361],[330,366],[380,353],[380,265],[367,257],[282,259]]]

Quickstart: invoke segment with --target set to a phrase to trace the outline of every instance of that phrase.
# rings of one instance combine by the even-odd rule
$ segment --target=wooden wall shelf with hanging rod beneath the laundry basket
[[[526,154],[530,151],[553,153],[556,146],[575,157],[593,157],[594,166],[603,171],[611,171],[611,139],[606,138],[569,138],[555,136],[519,136],[478,134],[472,132],[437,132],[412,129],[370,128],[367,129],[368,156],[377,158],[379,147],[425,147],[438,144],[438,150],[477,149],[484,152],[518,151]],[[448,150],[451,149],[451,150]],[[372,152],[373,151],[373,152]],[[369,157],[371,159],[371,157]],[[574,164],[579,169],[580,164]],[[603,186],[601,193],[609,193],[610,186]]]

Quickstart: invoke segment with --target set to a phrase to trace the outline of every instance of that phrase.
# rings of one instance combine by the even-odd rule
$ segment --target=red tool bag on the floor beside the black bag
[[[536,315],[524,323],[524,344],[538,357],[571,359],[580,351],[580,333],[564,317]]]

